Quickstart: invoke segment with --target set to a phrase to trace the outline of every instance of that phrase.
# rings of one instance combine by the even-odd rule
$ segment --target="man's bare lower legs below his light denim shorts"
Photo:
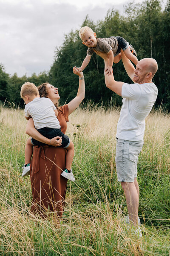
[[[138,183],[135,184],[135,182],[121,182],[121,185],[125,193],[129,219],[130,221],[133,222],[134,225],[138,225],[138,208],[139,208]],[[136,186],[137,186],[137,189],[136,189]]]

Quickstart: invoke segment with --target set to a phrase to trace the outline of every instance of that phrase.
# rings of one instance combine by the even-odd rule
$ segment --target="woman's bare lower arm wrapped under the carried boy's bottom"
[[[27,126],[26,126],[26,134],[34,138],[35,140],[38,140],[42,143],[57,147],[60,146],[62,143],[61,137],[57,136],[52,138],[51,140],[44,137],[42,134],[37,131],[37,129],[34,127],[34,121],[32,118],[28,120]],[[58,139],[58,140],[57,140]]]

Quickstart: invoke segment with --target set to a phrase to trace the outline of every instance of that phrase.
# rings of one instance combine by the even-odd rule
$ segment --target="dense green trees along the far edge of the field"
[[[122,36],[133,45],[138,59],[155,58],[158,62],[158,72],[153,82],[159,89],[156,107],[162,105],[170,111],[170,0],[164,10],[161,9],[159,0],[146,0],[143,3],[128,4],[124,8],[124,15],[119,11],[110,9],[104,20],[96,23],[85,17],[82,26],[90,26],[97,37]],[[79,38],[78,28],[65,35],[65,40],[60,48],[55,49],[54,63],[49,72],[39,75],[33,73],[18,77],[17,73],[9,76],[3,65],[0,65],[0,101],[6,104],[23,107],[20,99],[20,87],[25,81],[30,81],[37,86],[48,81],[59,88],[60,104],[69,102],[77,93],[78,79],[73,74],[73,67],[80,67],[86,56],[87,47]],[[85,100],[104,105],[121,105],[122,98],[105,87],[104,61],[94,54],[90,63],[83,71],[85,76]],[[113,73],[116,81],[131,83],[123,67],[122,61],[113,64]]]

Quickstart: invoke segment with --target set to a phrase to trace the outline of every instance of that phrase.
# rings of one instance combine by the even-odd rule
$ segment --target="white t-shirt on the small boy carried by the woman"
[[[36,129],[43,127],[59,129],[59,120],[57,119],[54,110],[54,103],[48,98],[35,98],[25,107],[25,115],[31,116]]]

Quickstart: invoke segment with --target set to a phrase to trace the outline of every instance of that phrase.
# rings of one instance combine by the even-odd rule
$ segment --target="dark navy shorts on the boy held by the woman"
[[[48,127],[44,127],[41,129],[37,129],[37,131],[40,132],[40,134],[42,134],[44,137],[48,138],[48,139],[52,139],[56,136],[62,137],[62,148],[68,148],[68,146],[70,145],[70,138],[63,134],[61,129],[54,129],[54,128],[48,128]],[[45,143],[42,143],[38,140],[35,140],[33,138],[31,138],[31,143],[33,145],[44,145]]]

